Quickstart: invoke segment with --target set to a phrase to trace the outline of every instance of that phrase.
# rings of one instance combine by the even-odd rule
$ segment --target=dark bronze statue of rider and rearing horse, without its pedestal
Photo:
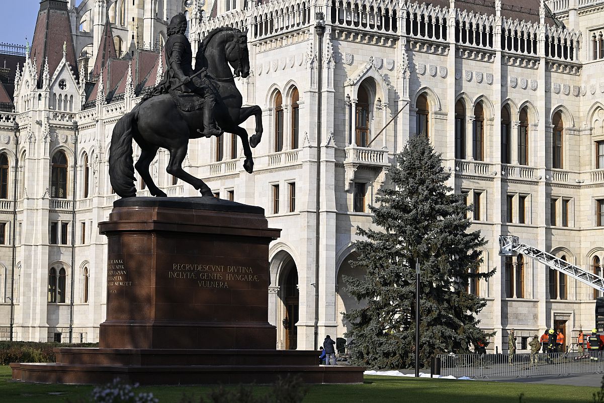
[[[249,76],[247,32],[229,27],[210,31],[202,40],[192,69],[186,29],[182,13],[172,18],[165,46],[168,66],[164,79],[150,97],[143,98],[115,124],[109,148],[109,178],[115,193],[123,198],[137,195],[135,167],[151,195],[166,196],[149,173],[159,147],[170,152],[166,168],[170,175],[193,185],[202,196],[213,196],[204,181],[182,169],[191,138],[236,134],[243,145],[243,168],[248,173],[254,169],[250,146],[257,146],[262,138],[262,109],[257,105],[242,108],[243,98],[234,80]],[[255,134],[248,141],[248,132],[239,125],[252,115]],[[141,148],[135,165],[132,139]]]

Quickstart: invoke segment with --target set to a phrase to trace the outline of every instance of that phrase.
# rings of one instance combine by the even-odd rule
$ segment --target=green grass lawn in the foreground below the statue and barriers
[[[0,366],[2,403],[65,402],[66,399],[78,402],[88,398],[92,390],[92,386],[23,384],[10,381],[10,376],[10,367]],[[259,393],[268,390],[267,387],[257,389]],[[136,390],[153,392],[160,403],[179,403],[183,393],[198,398],[205,396],[210,387],[164,386]],[[566,385],[365,376],[362,385],[314,385],[309,388],[304,403],[516,403],[521,393],[524,393],[523,403],[590,403],[596,390]]]

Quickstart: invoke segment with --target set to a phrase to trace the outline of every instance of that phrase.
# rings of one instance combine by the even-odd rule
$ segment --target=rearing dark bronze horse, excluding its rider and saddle
[[[249,53],[247,32],[237,28],[216,28],[205,36],[196,55],[194,71],[207,67],[208,76],[217,90],[215,115],[216,123],[223,131],[239,136],[243,144],[245,161],[243,167],[249,173],[254,170],[252,147],[262,138],[262,109],[259,106],[242,108],[243,98],[235,85],[234,77],[249,76]],[[234,73],[231,73],[231,66]],[[210,187],[199,178],[182,169],[182,161],[187,155],[188,141],[202,137],[197,129],[203,130],[201,109],[183,112],[172,100],[172,95],[156,95],[143,100],[115,124],[109,148],[109,177],[111,185],[123,198],[137,195],[134,167],[153,196],[165,197],[153,182],[149,165],[162,147],[170,152],[166,171],[176,178],[193,185],[202,196],[213,196]],[[249,138],[248,132],[239,125],[254,115],[255,134]],[[132,139],[141,147],[141,155],[133,165]]]

